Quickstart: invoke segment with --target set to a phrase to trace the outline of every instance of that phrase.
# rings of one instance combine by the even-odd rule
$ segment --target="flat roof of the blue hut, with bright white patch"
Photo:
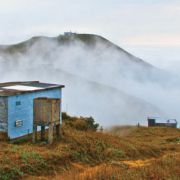
[[[34,91],[43,91],[53,88],[64,88],[64,85],[42,83],[39,81],[6,82],[0,83],[0,96],[13,96]]]

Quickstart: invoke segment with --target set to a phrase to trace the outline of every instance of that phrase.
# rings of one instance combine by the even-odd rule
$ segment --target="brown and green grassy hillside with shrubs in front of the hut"
[[[92,118],[64,118],[62,138],[53,145],[32,144],[31,137],[0,141],[0,179],[178,179],[179,129],[97,132]]]

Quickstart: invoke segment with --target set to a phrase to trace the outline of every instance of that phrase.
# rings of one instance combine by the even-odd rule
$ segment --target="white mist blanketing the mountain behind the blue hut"
[[[0,48],[1,82],[64,84],[63,111],[102,126],[147,124],[148,116],[180,118],[180,81],[98,36],[33,38]],[[13,48],[14,49],[13,49]]]

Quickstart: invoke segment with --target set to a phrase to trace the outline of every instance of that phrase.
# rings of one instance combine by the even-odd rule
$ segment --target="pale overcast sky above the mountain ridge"
[[[162,68],[180,61],[180,0],[0,0],[0,44],[70,30],[102,35]]]

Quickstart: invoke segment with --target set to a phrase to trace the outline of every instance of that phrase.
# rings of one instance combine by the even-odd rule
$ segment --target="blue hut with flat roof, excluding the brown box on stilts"
[[[63,87],[39,81],[0,83],[0,132],[9,139],[32,133],[34,99],[55,98],[61,103]]]

